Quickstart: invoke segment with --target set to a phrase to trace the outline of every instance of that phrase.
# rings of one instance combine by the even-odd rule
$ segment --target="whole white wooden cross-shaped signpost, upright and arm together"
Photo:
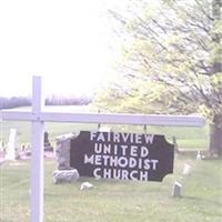
[[[44,122],[110,123],[141,125],[202,127],[193,115],[56,113],[43,111],[41,77],[32,79],[32,111],[1,111],[2,120],[32,122],[31,137],[31,222],[43,222],[43,132]]]

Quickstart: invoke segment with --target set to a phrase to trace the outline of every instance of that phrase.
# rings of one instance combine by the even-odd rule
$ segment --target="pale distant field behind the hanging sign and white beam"
[[[63,107],[46,107],[47,110],[54,112],[93,112],[90,105],[63,105]],[[30,110],[30,108],[21,108],[19,110]],[[102,125],[110,127],[117,132],[144,132],[143,125]],[[22,143],[30,143],[31,141],[31,123],[19,121],[3,121],[1,122],[0,141],[8,142],[10,128],[18,130],[18,148]],[[81,130],[97,130],[98,124],[77,124],[77,123],[54,123],[47,122],[46,131],[49,132],[49,140],[54,147],[56,138],[58,135],[79,132]],[[203,128],[183,128],[183,127],[152,127],[147,125],[147,133],[164,134],[169,142],[172,142],[172,137],[178,140],[179,149],[208,149],[209,147],[209,125]]]

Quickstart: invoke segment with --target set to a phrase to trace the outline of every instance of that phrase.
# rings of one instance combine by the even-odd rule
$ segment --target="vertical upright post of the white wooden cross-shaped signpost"
[[[43,222],[43,134],[44,122],[41,112],[44,105],[41,78],[32,80],[32,125],[31,125],[31,222]]]

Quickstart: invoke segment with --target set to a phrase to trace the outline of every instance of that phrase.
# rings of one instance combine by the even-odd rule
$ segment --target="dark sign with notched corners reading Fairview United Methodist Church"
[[[70,152],[70,165],[84,176],[162,181],[173,172],[173,144],[164,135],[81,131]]]

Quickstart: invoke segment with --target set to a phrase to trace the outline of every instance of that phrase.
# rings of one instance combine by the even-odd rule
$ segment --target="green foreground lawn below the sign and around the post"
[[[184,163],[191,175],[182,175]],[[72,184],[53,184],[54,160],[44,161],[44,222],[221,222],[222,163],[196,161],[194,154],[175,157],[174,173],[158,182],[82,178]],[[30,161],[0,167],[0,221],[29,221]],[[80,191],[81,182],[94,189]],[[172,198],[174,181],[182,198]]]

